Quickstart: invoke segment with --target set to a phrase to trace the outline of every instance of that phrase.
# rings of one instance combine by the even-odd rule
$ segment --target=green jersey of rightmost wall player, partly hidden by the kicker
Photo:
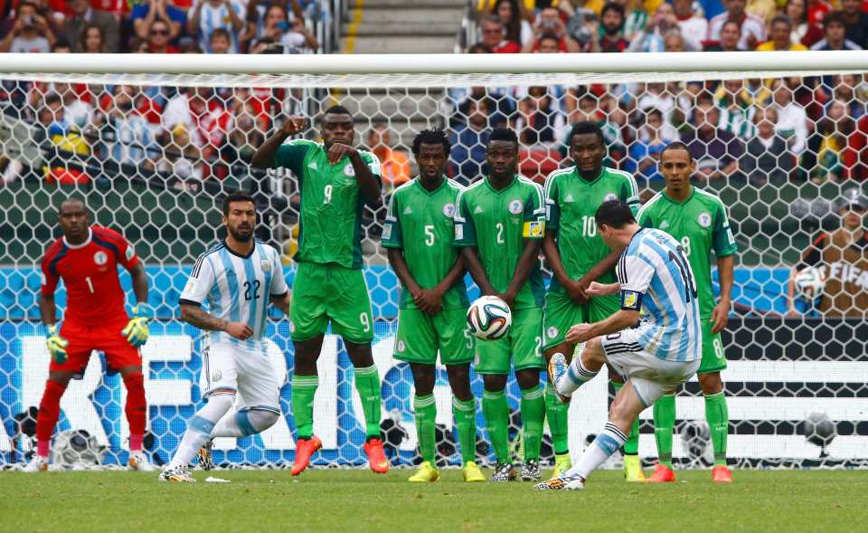
[[[684,203],[673,200],[661,191],[639,210],[638,223],[669,233],[684,246],[684,254],[693,270],[699,291],[699,313],[703,319],[712,316],[716,305],[712,291],[710,254],[726,257],[738,252],[730,221],[721,199],[692,187]]]

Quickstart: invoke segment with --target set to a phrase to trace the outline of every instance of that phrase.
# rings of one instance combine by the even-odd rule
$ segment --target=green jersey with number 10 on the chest
[[[597,233],[594,215],[607,200],[626,202],[637,213],[639,195],[636,180],[628,172],[602,167],[599,176],[587,180],[576,167],[555,170],[545,180],[546,227],[557,234],[558,252],[563,268],[571,280],[579,280],[598,262],[609,255],[609,246]],[[615,271],[597,280],[617,281]],[[552,277],[550,290],[561,290]]]

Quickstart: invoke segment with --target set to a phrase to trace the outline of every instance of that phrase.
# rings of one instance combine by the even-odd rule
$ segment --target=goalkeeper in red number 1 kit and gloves
[[[90,352],[106,354],[109,368],[120,373],[127,387],[131,470],[151,470],[142,452],[147,406],[139,347],[148,336],[147,277],[133,247],[119,233],[90,225],[84,202],[70,198],[61,204],[58,222],[63,235],[42,258],[39,310],[52,356],[48,381],[36,419],[36,456],[26,471],[48,470],[49,447],[61,414],[61,396],[72,376],[82,375]],[[136,292],[133,317],[124,309],[118,264],[129,271]],[[56,321],[54,291],[63,280],[67,305],[63,324]]]

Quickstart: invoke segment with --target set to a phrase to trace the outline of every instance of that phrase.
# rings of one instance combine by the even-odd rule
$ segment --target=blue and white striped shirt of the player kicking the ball
[[[618,261],[621,309],[645,310],[637,342],[666,361],[702,357],[696,282],[675,237],[642,229]]]

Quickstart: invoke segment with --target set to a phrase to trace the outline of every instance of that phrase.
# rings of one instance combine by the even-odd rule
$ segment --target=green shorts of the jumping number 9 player
[[[329,263],[299,262],[292,284],[289,338],[296,341],[332,332],[355,344],[373,340],[368,286],[359,269]]]

